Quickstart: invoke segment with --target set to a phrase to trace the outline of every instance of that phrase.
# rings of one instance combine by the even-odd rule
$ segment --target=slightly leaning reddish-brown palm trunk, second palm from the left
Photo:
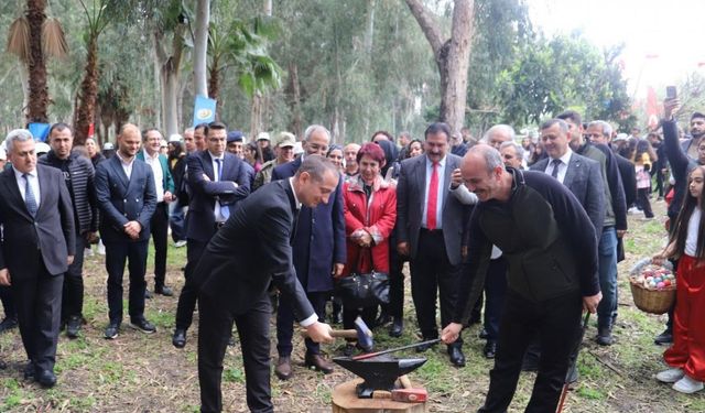
[[[79,106],[74,124],[74,144],[82,145],[88,138],[90,123],[94,120],[96,96],[98,95],[98,35],[88,39],[86,68],[79,87]]]

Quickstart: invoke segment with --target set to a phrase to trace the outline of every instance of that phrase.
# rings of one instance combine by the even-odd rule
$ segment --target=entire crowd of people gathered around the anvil
[[[174,248],[186,247],[172,344],[187,345],[198,305],[202,411],[221,410],[235,324],[248,406],[269,412],[270,317],[279,379],[295,374],[296,322],[307,330],[305,366],[329,373],[321,348],[333,340],[326,320],[352,328],[361,316],[392,337],[403,334],[409,262],[415,317],[406,319],[424,341],[417,351],[441,339],[451,365],[462,368],[462,332],[481,323],[482,354],[495,367],[480,411],[505,411],[522,369],[539,371],[528,409],[551,411],[563,383],[577,379],[582,311],[597,314],[599,345],[615,343],[627,215],[652,219],[653,193],[670,203],[673,222],[654,262],[677,260],[679,269],[676,305],[655,338],[672,343],[664,355],[671,368],[657,378],[694,392],[705,381],[705,338],[693,327],[703,306],[705,116],[693,113],[683,140],[677,109],[668,100],[664,120],[646,137],[565,111],[521,141],[508,124],[475,139],[467,128],[434,122],[420,139],[376,131],[367,142],[339,145],[319,124],[300,140],[286,131],[248,140],[221,122],[166,140],[128,123],[100,151],[93,138],[74,145],[70,127],[56,123],[39,154],[29,131],[13,130],[0,152],[0,333],[19,325],[24,377],[53,387],[59,329],[69,338],[84,334],[83,263],[98,242],[105,338],[117,339],[122,328],[126,263],[129,325],[154,333],[145,300],[176,294],[166,283],[171,233]],[[153,289],[145,278],[150,239]],[[389,274],[389,303],[360,308],[333,294],[336,280],[371,271]],[[341,352],[360,350],[349,340]]]

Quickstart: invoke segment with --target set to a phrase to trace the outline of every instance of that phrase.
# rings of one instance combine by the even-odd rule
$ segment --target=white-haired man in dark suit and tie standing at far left
[[[25,378],[53,387],[64,273],[76,252],[74,213],[64,175],[36,164],[30,131],[11,131],[6,145],[12,167],[0,173],[0,284],[17,301]]]

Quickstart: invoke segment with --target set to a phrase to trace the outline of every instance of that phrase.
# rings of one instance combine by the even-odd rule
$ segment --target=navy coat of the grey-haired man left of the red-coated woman
[[[301,156],[274,167],[272,182],[288,180],[299,171]],[[343,178],[338,181],[328,204],[315,208],[306,206],[299,213],[294,235],[294,267],[307,292],[333,290],[333,264],[346,262],[345,215],[343,210]]]

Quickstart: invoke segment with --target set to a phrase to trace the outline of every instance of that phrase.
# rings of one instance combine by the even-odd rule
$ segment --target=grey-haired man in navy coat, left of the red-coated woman
[[[279,165],[272,171],[272,181],[294,176],[303,161],[311,155],[325,155],[330,143],[330,133],[319,124],[306,128],[302,142],[304,154],[296,160]],[[340,180],[341,181],[341,180]],[[294,235],[294,268],[308,301],[316,314],[325,315],[326,301],[333,290],[333,278],[343,273],[346,261],[345,216],[343,214],[343,182],[338,182],[330,202],[314,208],[304,206],[299,215]],[[279,360],[274,372],[286,380],[291,377],[292,338],[294,334],[294,303],[282,296],[276,313],[276,350]],[[333,365],[321,355],[321,347],[311,339],[305,340],[305,365],[324,373],[333,371]]]

